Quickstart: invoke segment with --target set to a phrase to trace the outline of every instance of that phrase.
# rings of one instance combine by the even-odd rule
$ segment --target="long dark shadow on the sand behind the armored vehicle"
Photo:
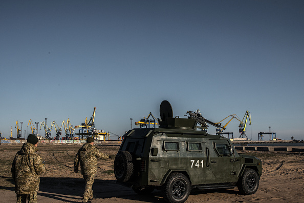
[[[83,192],[82,178],[40,177],[38,195],[65,202],[79,202]],[[142,202],[164,202],[160,191],[155,190],[150,195],[138,195],[131,188],[116,184],[116,180],[95,179],[93,193],[96,199],[121,198]]]

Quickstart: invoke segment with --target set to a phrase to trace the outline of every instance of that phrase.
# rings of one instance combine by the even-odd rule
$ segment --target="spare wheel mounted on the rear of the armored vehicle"
[[[119,151],[114,160],[114,174],[118,181],[126,182],[132,176],[132,154],[128,151]]]

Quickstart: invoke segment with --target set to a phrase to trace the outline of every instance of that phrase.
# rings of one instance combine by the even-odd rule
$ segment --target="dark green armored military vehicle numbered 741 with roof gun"
[[[173,117],[165,100],[159,128],[129,130],[114,160],[117,182],[138,194],[162,190],[168,202],[186,201],[194,188],[237,187],[243,194],[254,194],[261,160],[238,154],[229,139],[206,132],[208,120],[200,113],[187,113],[188,118]]]

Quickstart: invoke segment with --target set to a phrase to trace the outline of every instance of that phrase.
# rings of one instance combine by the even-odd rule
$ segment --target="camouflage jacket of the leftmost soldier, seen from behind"
[[[25,143],[13,160],[11,172],[15,181],[17,194],[30,194],[39,190],[39,175],[46,168],[42,164],[42,158],[37,153],[37,148],[31,143]]]

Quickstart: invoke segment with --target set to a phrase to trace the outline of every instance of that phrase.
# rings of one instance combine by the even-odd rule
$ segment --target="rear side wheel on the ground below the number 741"
[[[164,198],[171,203],[185,202],[190,194],[191,184],[182,173],[172,173],[163,186]]]

